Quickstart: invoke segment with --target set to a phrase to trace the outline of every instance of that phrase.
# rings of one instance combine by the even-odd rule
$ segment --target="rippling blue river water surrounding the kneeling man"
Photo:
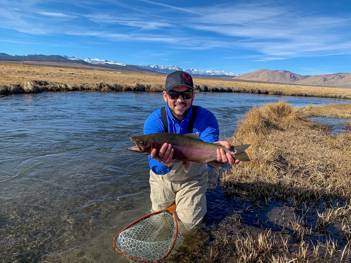
[[[253,106],[287,100],[347,100],[240,93],[198,93],[222,136]],[[161,93],[44,92],[0,99],[0,255],[4,261],[128,262],[112,248],[125,225],[150,213],[146,156],[125,150]],[[213,177],[215,178],[215,177]],[[207,191],[207,222],[227,207],[219,185]],[[209,198],[210,197],[210,198]],[[226,213],[238,209],[234,204]]]

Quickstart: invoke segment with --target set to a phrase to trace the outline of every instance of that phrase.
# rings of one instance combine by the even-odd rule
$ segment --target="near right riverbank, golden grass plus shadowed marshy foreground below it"
[[[351,105],[248,112],[230,142],[251,143],[251,162],[221,176],[236,209],[170,262],[350,262],[351,132],[308,121],[325,115],[351,119]]]

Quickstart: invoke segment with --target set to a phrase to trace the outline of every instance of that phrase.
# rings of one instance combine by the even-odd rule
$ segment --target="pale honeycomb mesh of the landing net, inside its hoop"
[[[157,262],[181,241],[173,214],[163,211],[122,230],[115,240],[121,255],[135,261]]]

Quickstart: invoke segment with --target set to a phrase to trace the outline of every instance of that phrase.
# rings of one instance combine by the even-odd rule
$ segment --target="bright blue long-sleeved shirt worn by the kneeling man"
[[[219,140],[219,128],[216,117],[209,110],[200,106],[196,107],[198,108],[198,112],[193,126],[193,133],[199,133],[201,140],[205,142],[217,142]],[[187,133],[192,108],[190,108],[186,118],[182,122],[177,121],[173,117],[168,106],[166,106],[166,114],[168,120],[168,132],[179,134]],[[144,134],[164,132],[165,127],[161,117],[161,109],[157,109],[147,117],[144,124]],[[150,168],[155,174],[165,175],[172,169],[172,167],[165,166],[157,160],[151,159],[150,155],[148,158]]]

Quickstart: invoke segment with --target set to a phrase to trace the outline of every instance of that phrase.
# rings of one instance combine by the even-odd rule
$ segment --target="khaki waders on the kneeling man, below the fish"
[[[206,214],[208,173],[203,163],[193,163],[188,173],[183,162],[174,162],[165,175],[150,170],[152,209],[159,211],[176,202],[176,215],[187,228],[198,228]]]

